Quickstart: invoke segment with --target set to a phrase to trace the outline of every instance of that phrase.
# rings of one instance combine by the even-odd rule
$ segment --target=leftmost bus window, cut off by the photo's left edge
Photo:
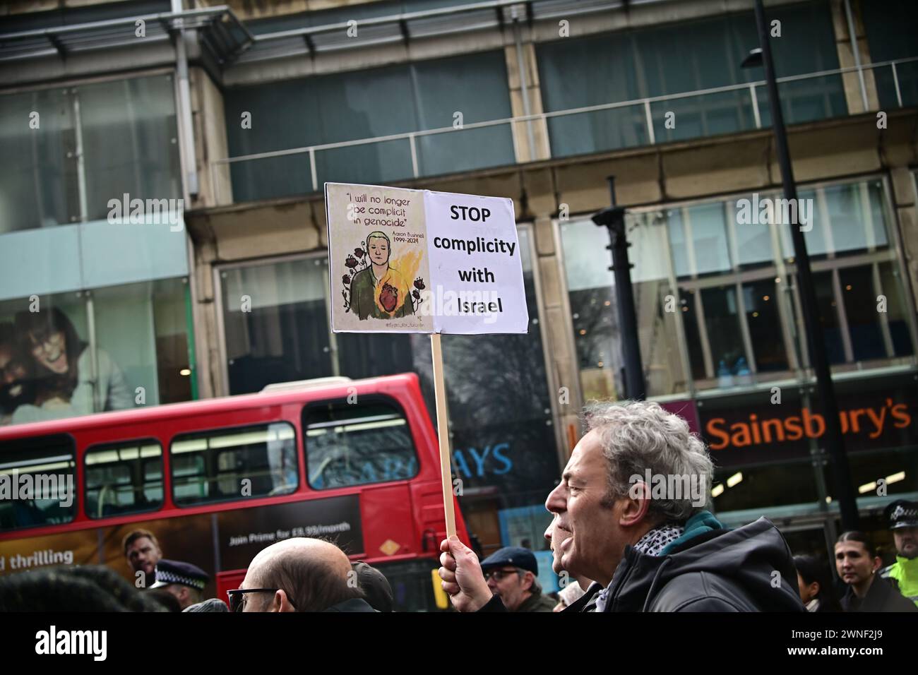
[[[0,532],[73,521],[73,450],[67,435],[0,444]]]

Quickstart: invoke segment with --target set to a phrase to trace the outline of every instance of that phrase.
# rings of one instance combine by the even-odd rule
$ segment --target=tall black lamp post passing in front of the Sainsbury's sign
[[[797,203],[797,186],[794,184],[793,169],[790,166],[788,135],[784,128],[784,116],[781,114],[781,102],[778,98],[778,82],[775,80],[775,63],[771,58],[771,43],[768,38],[768,25],[765,20],[765,9],[762,0],[756,0],[756,25],[758,41],[762,48],[762,64],[765,66],[765,79],[768,84],[768,107],[771,109],[771,124],[775,129],[775,146],[778,150],[778,165],[781,167],[781,180],[784,184],[784,197]],[[806,250],[806,240],[796,223],[790,223],[790,237],[794,244],[794,256],[797,263],[797,279],[800,285],[800,304],[803,310],[803,323],[806,327],[807,344],[810,347],[810,365],[816,376],[816,390],[823,402],[825,433],[823,440],[832,457],[832,476],[835,493],[838,497],[838,509],[842,517],[843,530],[856,530],[858,523],[857,501],[851,484],[851,472],[848,467],[848,456],[845,454],[845,440],[842,435],[841,422],[838,419],[838,402],[835,400],[835,388],[832,372],[825,355],[823,325],[819,322],[819,309],[816,305],[816,292],[812,285],[810,255]]]

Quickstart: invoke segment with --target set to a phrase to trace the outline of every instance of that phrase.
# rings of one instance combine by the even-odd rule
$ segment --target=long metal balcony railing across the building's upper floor
[[[823,98],[826,98],[830,94],[843,96],[844,88],[842,87],[840,79],[837,83],[833,83],[829,78],[840,78],[845,73],[855,73],[858,70],[869,70],[874,73],[881,108],[890,109],[892,107],[901,108],[918,105],[918,57],[887,62],[865,63],[862,64],[860,68],[853,66],[819,71],[816,73],[803,73],[780,77],[778,78],[778,84],[783,85],[782,88],[787,88],[795,83],[809,84],[803,92],[793,94],[792,96],[782,96],[782,104],[786,108],[792,106],[795,97],[798,99],[808,97],[810,100],[815,100],[814,97],[823,96]],[[905,75],[904,80],[902,79],[903,74]],[[903,81],[908,85],[908,89],[905,90],[904,94],[902,88]],[[827,85],[826,83],[829,84]],[[782,95],[783,94],[784,92],[782,92]],[[717,97],[721,99],[726,98],[726,105],[723,103],[715,103],[713,106],[703,104],[703,99],[714,99],[716,101]],[[320,143],[281,151],[257,152],[236,157],[227,157],[213,161],[210,164],[210,171],[214,179],[214,185],[217,186],[218,190],[218,194],[216,194],[215,197],[217,203],[220,204],[224,203],[224,198],[229,197],[228,195],[219,194],[219,178],[226,177],[226,174],[220,175],[220,172],[227,172],[235,169],[236,176],[233,177],[232,174],[230,174],[230,178],[234,178],[233,182],[240,183],[241,187],[241,181],[244,176],[239,170],[242,167],[253,167],[255,165],[252,163],[277,160],[278,158],[289,158],[295,161],[284,163],[286,167],[284,169],[285,173],[288,174],[291,170],[296,173],[302,169],[305,174],[308,170],[308,181],[302,181],[302,185],[298,185],[300,181],[297,181],[295,177],[291,187],[286,188],[287,191],[285,194],[255,195],[252,197],[246,195],[246,197],[258,199],[290,196],[305,194],[309,191],[317,192],[320,186],[327,180],[334,181],[347,179],[347,175],[343,175],[340,170],[335,171],[333,166],[320,172],[317,163],[317,157],[319,160],[328,160],[334,152],[341,152],[343,149],[367,148],[369,150],[373,148],[375,152],[379,153],[377,160],[378,166],[380,167],[379,175],[375,180],[380,182],[406,180],[419,178],[422,175],[453,173],[454,171],[481,169],[487,168],[488,166],[516,163],[515,158],[521,156],[520,143],[525,142],[527,138],[530,137],[529,134],[521,134],[521,129],[526,129],[527,125],[532,125],[535,122],[543,124],[544,130],[548,135],[551,154],[554,157],[571,156],[585,152],[608,152],[610,150],[626,147],[652,145],[657,142],[698,138],[717,133],[733,133],[744,130],[761,129],[770,124],[770,120],[767,119],[768,110],[766,97],[767,89],[764,80],[751,83],[728,84],[712,87],[710,89],[667,94],[665,96],[646,96],[643,98],[605,103],[596,106],[568,108],[565,110],[555,110],[553,112],[543,112],[514,118],[490,119],[487,121],[464,124],[458,128],[442,127],[439,129],[407,131],[386,136],[376,136],[374,138]],[[666,127],[666,112],[668,112],[666,107],[673,107],[674,104],[678,102],[700,104],[696,105],[694,110],[691,107],[681,107],[677,112],[677,117],[689,115],[690,118],[691,115],[696,115],[698,124],[694,126],[696,130],[699,130],[698,128],[700,127],[700,132],[692,133],[691,129],[685,132],[679,130],[678,125],[676,129],[669,129]],[[792,111],[788,111],[787,109],[785,110],[785,115],[789,123],[793,124],[812,121],[813,119],[830,118],[847,112],[847,110],[839,110],[836,112],[833,109],[827,108],[832,108],[832,105],[828,103],[824,104],[823,114],[819,115],[808,114],[804,111],[801,115],[795,116],[794,114],[789,114],[789,112],[792,113]],[[722,123],[722,121],[718,124],[710,123],[706,117],[709,116],[712,111],[730,112],[733,118],[726,124]],[[580,118],[577,118],[577,116],[580,116]],[[565,143],[560,138],[564,134],[562,122],[570,121],[576,123],[576,120],[583,119],[583,116],[592,117],[583,121],[580,125],[583,127],[582,130],[579,127],[574,129],[574,136],[572,137],[580,141],[581,147],[577,147],[577,145],[572,145],[570,143],[567,143],[567,147],[565,147]],[[613,119],[614,124],[611,123]],[[691,126],[692,125],[689,125],[689,127]],[[470,131],[502,129],[504,127],[509,127],[508,150],[510,143],[513,149],[513,155],[512,157],[507,157],[507,161],[486,162],[468,167],[451,164],[450,170],[448,171],[442,171],[442,167],[425,166],[425,163],[433,164],[435,159],[438,160],[437,163],[442,163],[439,161],[441,158],[437,157],[435,149],[430,147],[430,142],[428,140],[438,137],[443,138],[444,135],[448,134],[464,133],[466,134],[467,140]],[[683,125],[683,129],[684,128],[685,125]],[[671,133],[673,130],[677,130],[677,133]],[[610,131],[614,131],[613,135],[615,138],[603,139],[602,136],[608,135],[606,132]],[[686,133],[688,133],[688,135],[686,135]],[[487,137],[489,146],[494,143],[495,138],[493,134]],[[504,136],[504,138],[506,139],[506,136]],[[428,147],[419,149],[419,144]],[[483,151],[488,150],[488,147],[484,145],[480,147]],[[537,156],[537,153],[533,151],[534,149],[530,148],[529,156]],[[494,154],[494,152],[491,152],[491,154]],[[384,157],[386,159],[385,162],[382,161]],[[353,162],[353,155],[351,155],[350,162]],[[252,176],[258,177],[259,174],[252,174]],[[246,190],[234,189],[234,193],[236,192],[244,193]]]

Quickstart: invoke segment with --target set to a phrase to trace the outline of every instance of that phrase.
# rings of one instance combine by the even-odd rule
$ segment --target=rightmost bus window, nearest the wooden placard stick
[[[408,422],[393,405],[311,404],[303,411],[303,429],[313,489],[405,480],[418,473]]]

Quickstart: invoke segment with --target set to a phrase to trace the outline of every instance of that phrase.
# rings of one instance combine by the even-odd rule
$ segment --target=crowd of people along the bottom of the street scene
[[[595,404],[588,433],[545,501],[545,531],[561,590],[546,593],[532,551],[508,546],[480,559],[453,536],[439,575],[458,612],[918,612],[918,503],[885,516],[896,561],[883,568],[868,534],[845,532],[827,562],[793,556],[767,518],[731,530],[689,494],[651,493],[652,475],[711,476],[711,457],[688,424],[655,403]],[[203,597],[207,573],[164,559],[154,534],[123,542],[135,589],[106,568],[51,568],[0,579],[0,610],[73,608],[174,612],[391,612],[385,575],[352,563],[328,541],[267,546],[228,597]],[[147,583],[152,579],[151,583]],[[100,595],[92,604],[87,598]],[[104,599],[101,596],[104,595]],[[82,604],[81,604],[82,603]],[[90,607],[90,605],[92,605]],[[68,605],[69,606],[69,605]]]

